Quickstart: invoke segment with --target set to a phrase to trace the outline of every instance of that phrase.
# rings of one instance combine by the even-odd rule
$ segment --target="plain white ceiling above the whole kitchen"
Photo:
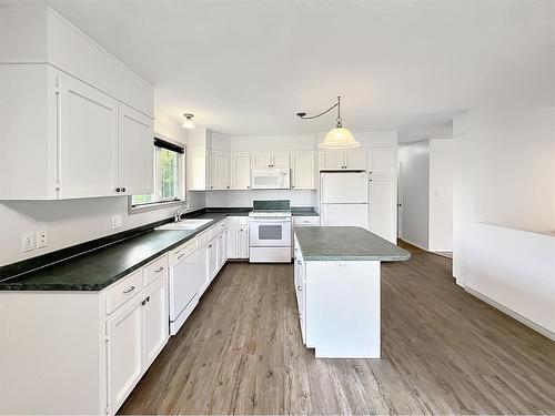
[[[49,0],[155,88],[228,134],[344,125],[442,135],[495,98],[555,105],[553,0]],[[441,133],[437,133],[441,132]],[[448,134],[448,133],[447,133]]]

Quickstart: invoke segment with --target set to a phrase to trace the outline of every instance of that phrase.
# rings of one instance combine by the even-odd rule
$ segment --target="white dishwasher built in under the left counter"
[[[196,239],[170,252],[170,334],[175,335],[199,303],[206,280],[206,254]]]

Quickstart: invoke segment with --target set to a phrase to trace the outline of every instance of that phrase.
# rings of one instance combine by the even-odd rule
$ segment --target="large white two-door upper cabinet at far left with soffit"
[[[0,13],[0,200],[151,193],[152,87],[49,8]]]

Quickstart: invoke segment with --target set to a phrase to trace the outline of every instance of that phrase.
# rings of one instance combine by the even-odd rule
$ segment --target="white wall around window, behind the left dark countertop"
[[[185,143],[186,134],[176,121],[157,110],[154,130]],[[190,207],[205,205],[203,192],[189,193]],[[168,219],[175,206],[140,214],[128,214],[127,196],[68,201],[0,201],[0,265],[41,255],[59,248]],[[122,216],[122,227],[112,230],[112,215]],[[46,248],[21,253],[21,234],[46,230]]]

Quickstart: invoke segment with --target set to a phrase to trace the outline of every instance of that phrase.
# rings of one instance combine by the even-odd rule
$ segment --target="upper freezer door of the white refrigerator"
[[[365,172],[321,174],[323,204],[359,204],[369,202],[369,175]]]

